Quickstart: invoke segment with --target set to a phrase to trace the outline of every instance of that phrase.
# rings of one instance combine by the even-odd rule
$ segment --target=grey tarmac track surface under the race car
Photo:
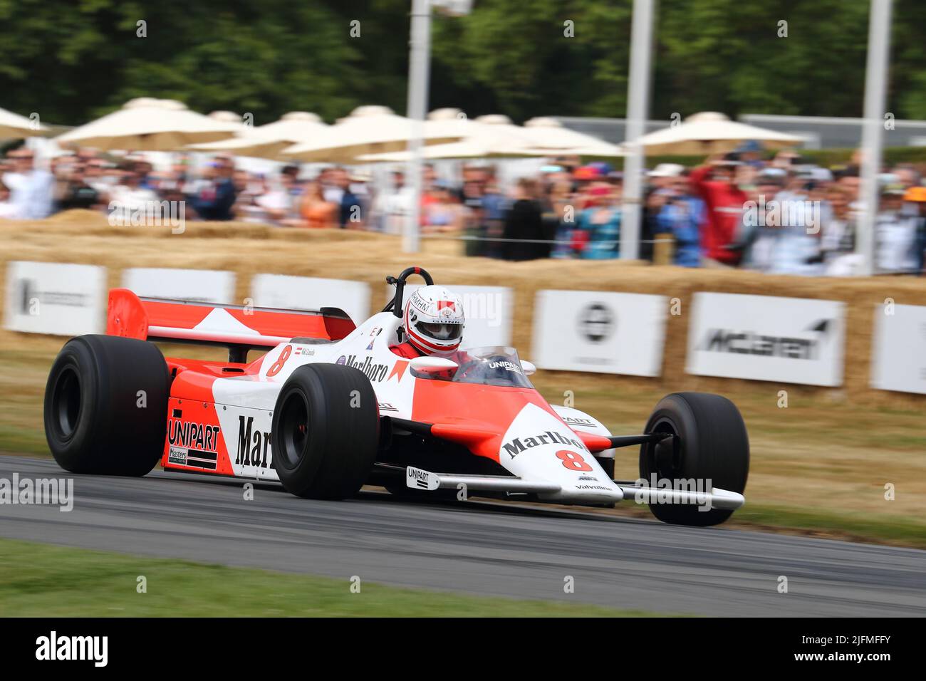
[[[52,460],[0,456],[0,477],[13,473],[69,475]],[[263,483],[245,501],[242,480],[160,471],[72,477],[73,511],[0,506],[0,536],[651,612],[926,614],[926,551],[917,549],[378,492],[311,501]]]

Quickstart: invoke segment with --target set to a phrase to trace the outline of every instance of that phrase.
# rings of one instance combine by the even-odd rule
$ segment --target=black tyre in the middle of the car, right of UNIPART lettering
[[[343,364],[307,364],[283,384],[273,410],[273,461],[297,497],[357,494],[376,460],[380,415],[369,379]]]

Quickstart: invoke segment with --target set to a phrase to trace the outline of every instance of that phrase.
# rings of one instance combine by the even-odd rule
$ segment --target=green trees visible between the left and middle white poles
[[[626,100],[629,3],[494,0],[439,19],[434,72],[452,74],[470,115],[619,116]],[[435,83],[440,97],[451,88]],[[442,104],[454,106],[449,98]]]

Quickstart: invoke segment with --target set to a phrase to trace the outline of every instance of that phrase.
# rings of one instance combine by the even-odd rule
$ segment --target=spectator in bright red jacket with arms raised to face
[[[689,180],[704,199],[701,248],[707,267],[736,267],[741,253],[727,246],[736,240],[748,196],[736,183],[737,158],[727,155],[708,158],[706,165],[692,170]]]

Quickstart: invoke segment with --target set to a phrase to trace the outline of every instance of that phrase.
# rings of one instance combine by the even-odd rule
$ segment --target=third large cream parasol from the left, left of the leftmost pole
[[[282,150],[302,142],[323,139],[331,130],[318,115],[291,111],[282,119],[257,128],[246,127],[239,135],[221,142],[190,145],[194,151],[217,151],[253,158],[282,159]]]

